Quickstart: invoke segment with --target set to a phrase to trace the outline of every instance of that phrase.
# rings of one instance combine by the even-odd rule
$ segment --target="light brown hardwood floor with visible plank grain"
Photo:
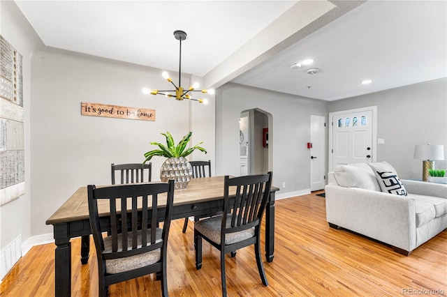
[[[304,195],[276,202],[275,250],[265,262],[269,286],[256,268],[253,248],[226,258],[228,296],[447,296],[447,231],[409,257],[346,230],[328,227],[325,199]],[[168,254],[170,296],[219,296],[219,253],[203,242],[203,267],[196,270],[193,224],[171,226]],[[390,226],[392,227],[392,226]],[[89,263],[80,264],[80,239],[72,241],[72,296],[96,296],[94,243]],[[0,295],[54,296],[53,244],[31,249],[3,278]],[[110,286],[110,296],[161,296],[154,275]]]

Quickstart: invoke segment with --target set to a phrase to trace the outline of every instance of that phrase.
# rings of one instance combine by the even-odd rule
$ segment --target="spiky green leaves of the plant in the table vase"
[[[184,135],[183,139],[180,140],[180,142],[175,145],[173,135],[170,135],[170,132],[161,133],[164,137],[166,137],[166,146],[164,144],[161,144],[159,142],[151,142],[153,146],[159,146],[159,149],[154,149],[152,151],[148,151],[145,153],[145,164],[149,160],[154,157],[154,155],[159,155],[161,157],[166,158],[179,158],[179,157],[186,157],[186,155],[190,155],[193,151],[198,149],[199,151],[202,151],[203,153],[207,153],[205,148],[199,146],[199,144],[203,144],[203,142],[199,142],[195,146],[191,146],[190,148],[186,148],[186,145],[188,144],[189,140],[191,140],[191,135],[193,132],[189,132],[188,134]],[[186,149],[185,149],[186,148]]]

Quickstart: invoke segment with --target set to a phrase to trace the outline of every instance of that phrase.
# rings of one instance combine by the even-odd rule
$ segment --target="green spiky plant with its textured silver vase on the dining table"
[[[186,148],[186,145],[191,140],[192,134],[193,132],[189,132],[177,145],[175,145],[173,135],[170,135],[170,132],[166,132],[166,134],[161,133],[161,135],[166,137],[166,146],[159,142],[151,142],[152,145],[159,146],[159,148],[145,153],[145,162],[143,162],[143,164],[151,160],[155,155],[168,158],[163,165],[161,165],[160,180],[168,181],[169,179],[174,179],[176,189],[186,188],[189,181],[191,181],[192,168],[185,157],[193,153],[193,151],[196,151],[196,149],[207,153],[205,148],[199,146],[200,144],[203,144],[203,142],[199,142],[195,146]]]

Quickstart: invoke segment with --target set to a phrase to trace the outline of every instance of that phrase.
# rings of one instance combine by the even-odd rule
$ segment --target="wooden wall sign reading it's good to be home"
[[[155,109],[81,102],[82,116],[155,121]]]

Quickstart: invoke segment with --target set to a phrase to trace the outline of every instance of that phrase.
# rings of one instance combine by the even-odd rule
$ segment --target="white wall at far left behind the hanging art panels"
[[[31,236],[31,158],[30,158],[30,102],[31,55],[41,45],[34,30],[14,1],[0,1],[0,34],[23,56],[23,112],[25,194],[0,207],[0,250],[22,235],[22,243]]]

